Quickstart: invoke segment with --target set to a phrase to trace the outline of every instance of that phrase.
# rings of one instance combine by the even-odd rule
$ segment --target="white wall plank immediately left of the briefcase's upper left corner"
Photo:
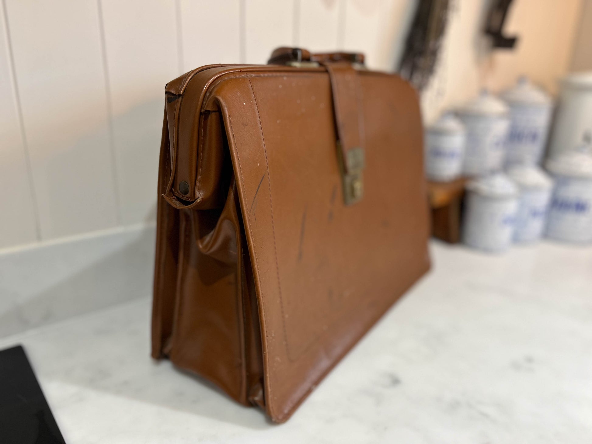
[[[121,223],[152,220],[166,82],[180,74],[174,0],[99,0]]]

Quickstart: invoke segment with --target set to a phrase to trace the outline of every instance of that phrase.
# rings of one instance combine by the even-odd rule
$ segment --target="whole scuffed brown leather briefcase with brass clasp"
[[[166,85],[152,356],[284,422],[429,268],[416,91],[281,48]]]

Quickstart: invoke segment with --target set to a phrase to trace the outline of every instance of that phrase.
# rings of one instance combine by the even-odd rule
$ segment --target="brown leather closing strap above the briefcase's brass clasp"
[[[348,153],[362,149],[364,140],[362,89],[358,70],[349,62],[321,62],[331,80],[333,110],[337,137],[342,150],[343,168],[346,173],[358,169],[352,165]],[[363,159],[362,159],[363,161]]]

